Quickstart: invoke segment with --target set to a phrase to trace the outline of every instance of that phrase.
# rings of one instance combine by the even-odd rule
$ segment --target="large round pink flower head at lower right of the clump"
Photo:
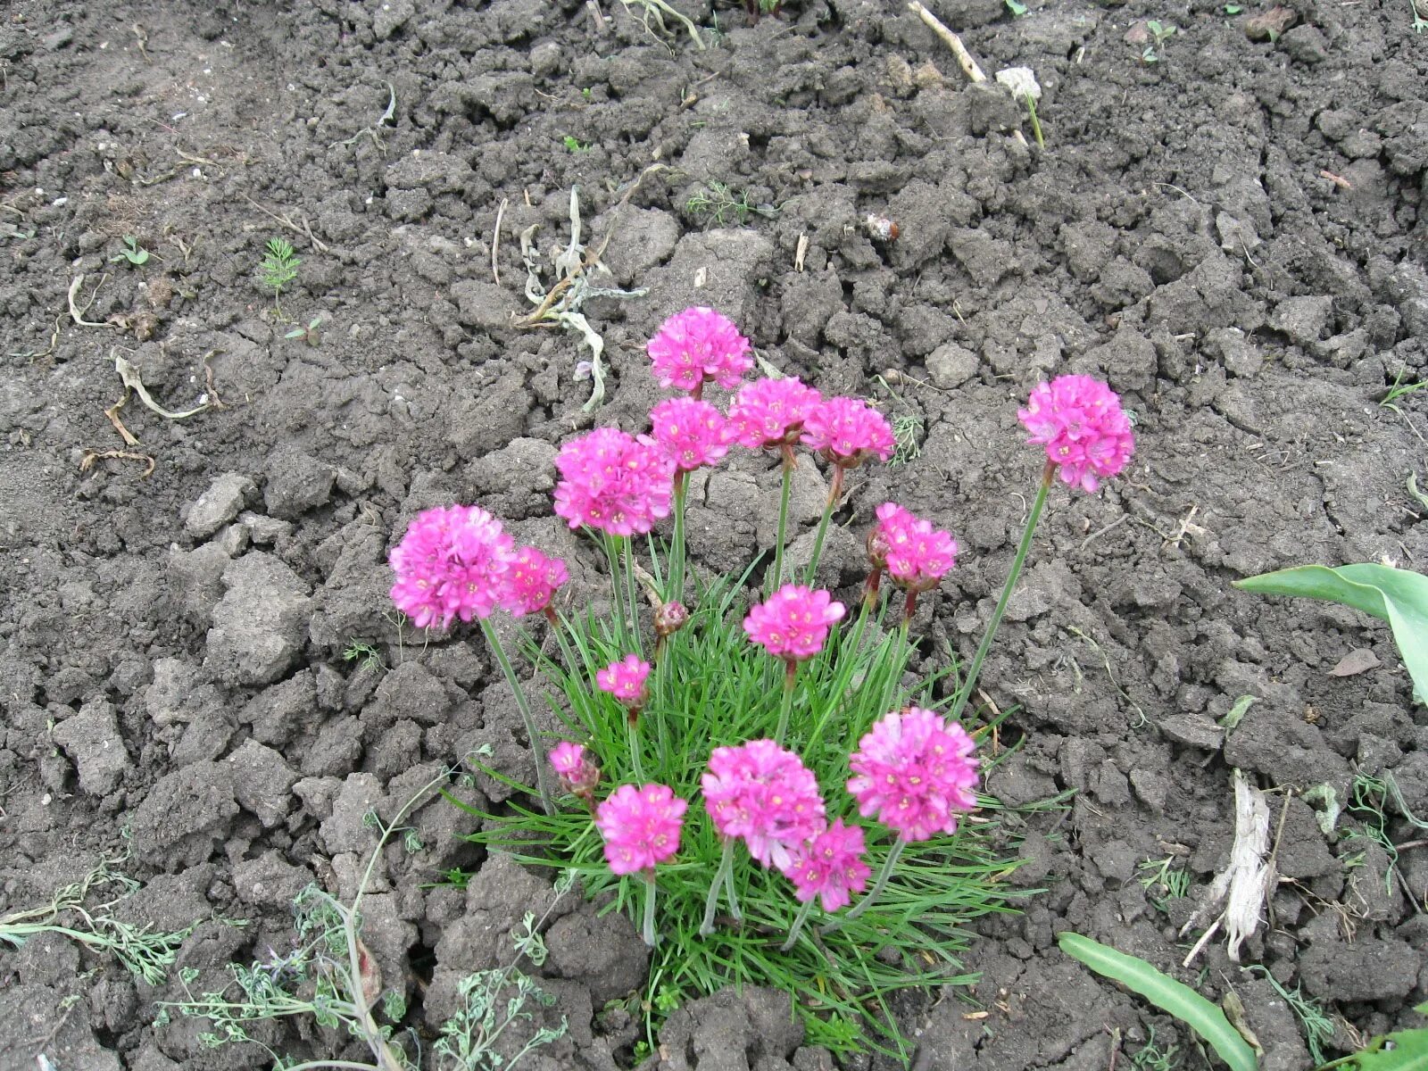
[[[905,841],[954,833],[977,805],[975,745],[955,721],[921,707],[878,720],[848,763],[848,791],[864,818],[877,817]]]

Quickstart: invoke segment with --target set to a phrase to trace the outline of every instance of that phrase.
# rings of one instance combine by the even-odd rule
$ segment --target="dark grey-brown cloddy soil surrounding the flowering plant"
[[[1014,416],[1030,387],[1102,376],[1137,414],[1131,470],[1095,497],[1054,491],[982,680],[1022,745],[990,790],[1075,793],[1017,820],[1012,881],[1045,891],[981,927],[977,985],[905,1005],[914,1067],[1127,1067],[1152,1027],[1204,1065],[1175,1022],[1062,957],[1067,928],[1235,990],[1265,1067],[1308,1067],[1262,972],[1222,942],[1180,967],[1178,925],[1232,838],[1232,767],[1284,815],[1244,962],[1322,1005],[1331,1055],[1407,1024],[1428,998],[1421,833],[1389,808],[1388,840],[1417,843],[1391,867],[1362,814],[1327,837],[1299,795],[1345,801],[1391,773],[1428,815],[1428,720],[1385,627],[1230,584],[1428,560],[1407,488],[1428,484],[1428,393],[1379,404],[1428,378],[1428,36],[1407,0],[1292,0],[1272,43],[1247,34],[1252,3],[1030,3],[934,7],[988,73],[1035,70],[1045,150],[894,0],[788,0],[757,24],[678,0],[703,51],[620,0],[600,23],[575,0],[6,4],[0,914],[127,853],[146,887],[117,910],[198,922],[177,967],[213,988],[287,940],[304,884],[351,891],[370,807],[483,744],[527,774],[478,644],[398,647],[386,551],[417,510],[480,500],[578,563],[548,510],[555,444],[597,420],[641,430],[658,397],[643,341],[713,304],[773,366],[922,421],[920,456],[861,473],[841,520],[897,498],[960,537],[920,617],[928,668],[971,653],[1005,575],[1040,470]],[[1144,20],[1175,26],[1155,61]],[[757,211],[691,210],[715,183]],[[538,224],[543,257],[564,244],[573,187],[587,240],[613,236],[613,284],[647,288],[587,304],[611,366],[593,416],[578,337],[510,326],[531,307],[518,236]],[[874,241],[870,214],[898,237]],[[141,267],[113,260],[126,234]],[[303,258],[290,321],[256,274],[278,236]],[[284,338],[316,317],[320,346]],[[116,357],[160,406],[213,407],[169,420],[131,398],[126,443],[106,417]],[[705,565],[767,538],[774,477],[745,457],[708,481]],[[855,540],[830,547],[851,588]],[[391,668],[344,660],[354,640]],[[1331,674],[1361,648],[1375,668]],[[1227,735],[1215,720],[1244,695]],[[421,888],[481,860],[440,800],[416,825],[426,847],[388,853],[364,915],[427,1030],[550,891],[496,857],[466,894]],[[1168,857],[1190,901],[1142,881]],[[635,1031],[601,1008],[644,985],[638,941],[561,910],[543,974],[571,1032],[523,1067],[613,1068]],[[193,1021],[153,1028],[178,992],[60,938],[0,952],[0,1065],[266,1065],[201,1048]],[[830,1067],[777,1011],[758,992],[691,1004],[660,1065]]]

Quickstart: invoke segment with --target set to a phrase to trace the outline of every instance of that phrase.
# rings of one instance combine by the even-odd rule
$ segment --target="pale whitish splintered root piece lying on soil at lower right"
[[[1185,957],[1185,967],[1200,955],[1200,950],[1221,925],[1225,928],[1230,958],[1240,962],[1240,945],[1259,928],[1259,914],[1274,884],[1274,861],[1269,858],[1269,804],[1264,793],[1250,784],[1242,771],[1235,770],[1231,781],[1235,787],[1235,843],[1230,848],[1230,865],[1215,875],[1204,902],[1181,927],[1181,937],[1204,925],[1221,902],[1225,907],[1195,941],[1195,947]]]

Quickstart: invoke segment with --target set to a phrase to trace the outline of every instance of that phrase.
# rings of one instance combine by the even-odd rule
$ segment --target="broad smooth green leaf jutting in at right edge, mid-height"
[[[1388,621],[1414,680],[1414,697],[1428,703],[1428,577],[1374,563],[1338,568],[1299,565],[1237,580],[1235,587],[1267,595],[1322,598]]]

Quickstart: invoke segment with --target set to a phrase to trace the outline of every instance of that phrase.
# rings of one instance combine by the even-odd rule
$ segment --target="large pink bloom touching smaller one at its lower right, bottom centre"
[[[743,837],[765,867],[790,865],[790,853],[824,828],[818,781],[773,740],[714,748],[700,785],[720,837]]]

